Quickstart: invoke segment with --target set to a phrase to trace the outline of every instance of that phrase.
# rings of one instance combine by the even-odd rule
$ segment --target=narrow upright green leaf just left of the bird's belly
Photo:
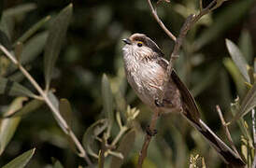
[[[105,74],[102,77],[101,91],[102,91],[102,98],[103,98],[103,109],[108,119],[107,134],[109,136],[111,127],[114,122],[113,94],[112,94],[107,76]]]

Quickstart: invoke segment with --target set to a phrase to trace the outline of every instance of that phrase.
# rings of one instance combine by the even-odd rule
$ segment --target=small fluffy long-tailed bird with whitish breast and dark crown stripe
[[[220,158],[229,165],[243,167],[245,162],[228,147],[200,118],[198,107],[185,84],[172,69],[164,90],[164,76],[168,62],[164,52],[147,35],[135,33],[122,39],[125,75],[128,83],[140,100],[149,108],[161,114],[181,114],[199,133],[201,133]],[[164,91],[158,104],[159,94]]]

